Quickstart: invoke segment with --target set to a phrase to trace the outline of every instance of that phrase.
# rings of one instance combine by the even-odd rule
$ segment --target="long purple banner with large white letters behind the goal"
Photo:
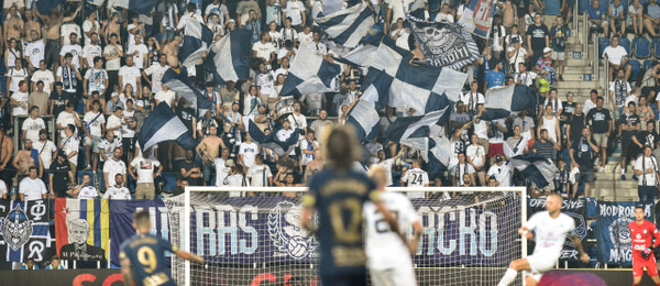
[[[474,201],[414,200],[424,228],[415,263],[507,265],[512,251],[519,251],[519,204],[514,197],[488,208]],[[173,243],[180,243],[189,227],[191,251],[210,264],[316,263],[318,242],[300,228],[302,207],[295,199],[205,198],[205,206],[191,206],[189,221],[179,199],[165,199],[165,205]]]

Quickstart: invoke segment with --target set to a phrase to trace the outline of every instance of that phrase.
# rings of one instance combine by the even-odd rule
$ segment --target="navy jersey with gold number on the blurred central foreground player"
[[[319,215],[321,275],[366,272],[362,207],[377,194],[374,183],[358,172],[326,168],[311,178],[304,205]]]

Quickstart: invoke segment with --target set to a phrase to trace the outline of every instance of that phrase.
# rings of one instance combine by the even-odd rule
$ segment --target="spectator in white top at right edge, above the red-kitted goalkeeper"
[[[637,158],[635,175],[638,177],[637,193],[640,201],[653,201],[658,197],[658,161],[651,156],[651,146],[644,147],[644,154]]]

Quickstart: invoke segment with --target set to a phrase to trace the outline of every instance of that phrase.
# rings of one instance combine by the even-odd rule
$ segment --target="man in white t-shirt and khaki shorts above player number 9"
[[[142,152],[142,157],[135,157],[129,166],[129,174],[136,180],[135,199],[154,199],[156,186],[154,178],[161,175],[163,166],[155,158],[150,158],[150,151]]]

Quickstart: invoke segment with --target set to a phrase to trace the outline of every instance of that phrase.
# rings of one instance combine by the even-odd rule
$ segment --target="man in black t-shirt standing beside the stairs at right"
[[[586,122],[590,122],[590,125],[593,128],[593,139],[601,148],[601,168],[598,168],[598,172],[605,172],[607,139],[612,134],[612,117],[609,116],[609,110],[603,108],[604,101],[603,97],[598,97],[596,99],[596,108],[586,113]]]

